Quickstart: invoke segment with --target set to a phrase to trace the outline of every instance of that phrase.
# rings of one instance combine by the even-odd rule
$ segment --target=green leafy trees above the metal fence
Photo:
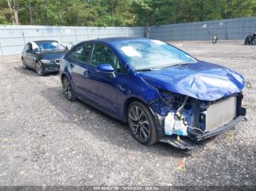
[[[23,25],[152,26],[252,17],[256,0],[0,0],[0,24],[13,9]]]

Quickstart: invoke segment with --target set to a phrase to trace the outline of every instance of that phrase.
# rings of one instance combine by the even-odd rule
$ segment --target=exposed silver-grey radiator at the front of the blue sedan
[[[236,117],[236,96],[225,98],[211,104],[205,112],[206,131],[225,125]]]

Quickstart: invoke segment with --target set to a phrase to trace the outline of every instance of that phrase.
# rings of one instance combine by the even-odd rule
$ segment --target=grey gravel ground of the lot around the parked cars
[[[246,77],[247,120],[192,151],[145,147],[126,124],[67,101],[58,74],[1,58],[0,185],[256,185],[256,47],[172,43]]]

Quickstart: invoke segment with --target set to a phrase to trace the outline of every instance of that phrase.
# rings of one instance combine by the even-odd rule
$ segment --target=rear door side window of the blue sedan
[[[75,61],[87,63],[92,44],[82,44],[72,52],[71,58]]]

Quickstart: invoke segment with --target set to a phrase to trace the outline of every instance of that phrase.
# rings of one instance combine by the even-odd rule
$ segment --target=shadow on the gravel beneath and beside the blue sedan
[[[42,96],[58,109],[61,114],[64,114],[64,121],[61,122],[78,125],[94,135],[95,138],[106,143],[133,151],[151,152],[165,156],[171,155],[177,158],[189,157],[192,154],[189,151],[162,143],[148,147],[143,146],[132,138],[126,123],[116,120],[82,101],[67,101],[60,86],[42,90]]]

